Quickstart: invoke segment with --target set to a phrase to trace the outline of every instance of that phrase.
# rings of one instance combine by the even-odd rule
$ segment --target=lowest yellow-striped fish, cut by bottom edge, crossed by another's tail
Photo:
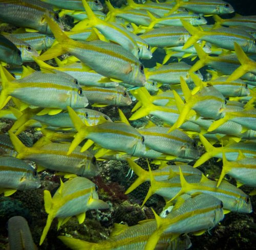
[[[58,236],[58,238],[71,249],[83,250],[121,250],[121,249],[144,249],[147,239],[156,230],[155,220],[142,221],[140,224],[128,227],[124,224],[114,224],[109,239],[98,243],[83,241],[67,236]],[[173,237],[172,233],[164,233],[155,249],[184,250],[188,249],[191,242],[187,235]]]

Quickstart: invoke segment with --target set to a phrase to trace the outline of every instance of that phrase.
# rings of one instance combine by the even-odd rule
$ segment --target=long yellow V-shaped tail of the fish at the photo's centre
[[[87,124],[82,122],[82,120],[72,108],[68,106],[67,109],[69,111],[70,118],[75,126],[75,129],[78,131],[69,147],[67,155],[70,155],[74,151],[74,149],[82,142],[82,140],[85,139],[88,135],[88,126]]]

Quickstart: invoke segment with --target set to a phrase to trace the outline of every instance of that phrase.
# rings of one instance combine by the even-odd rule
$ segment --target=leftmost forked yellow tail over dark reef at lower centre
[[[141,168],[138,164],[136,164],[133,160],[127,158],[126,161],[129,163],[132,170],[137,174],[137,180],[125,191],[124,194],[131,193],[135,188],[137,188],[140,184],[149,179],[149,174],[146,170]]]

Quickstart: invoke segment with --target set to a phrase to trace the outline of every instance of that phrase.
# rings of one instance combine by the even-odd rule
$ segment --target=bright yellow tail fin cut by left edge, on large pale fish
[[[2,91],[0,94],[0,109],[3,109],[6,104],[10,101],[11,96],[9,95],[8,86],[10,82],[15,80],[13,76],[0,64],[0,77],[2,80]]]

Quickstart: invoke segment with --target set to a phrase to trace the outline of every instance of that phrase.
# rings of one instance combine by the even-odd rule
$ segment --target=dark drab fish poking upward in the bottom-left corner
[[[13,216],[8,220],[8,249],[37,249],[28,222],[22,216]]]

